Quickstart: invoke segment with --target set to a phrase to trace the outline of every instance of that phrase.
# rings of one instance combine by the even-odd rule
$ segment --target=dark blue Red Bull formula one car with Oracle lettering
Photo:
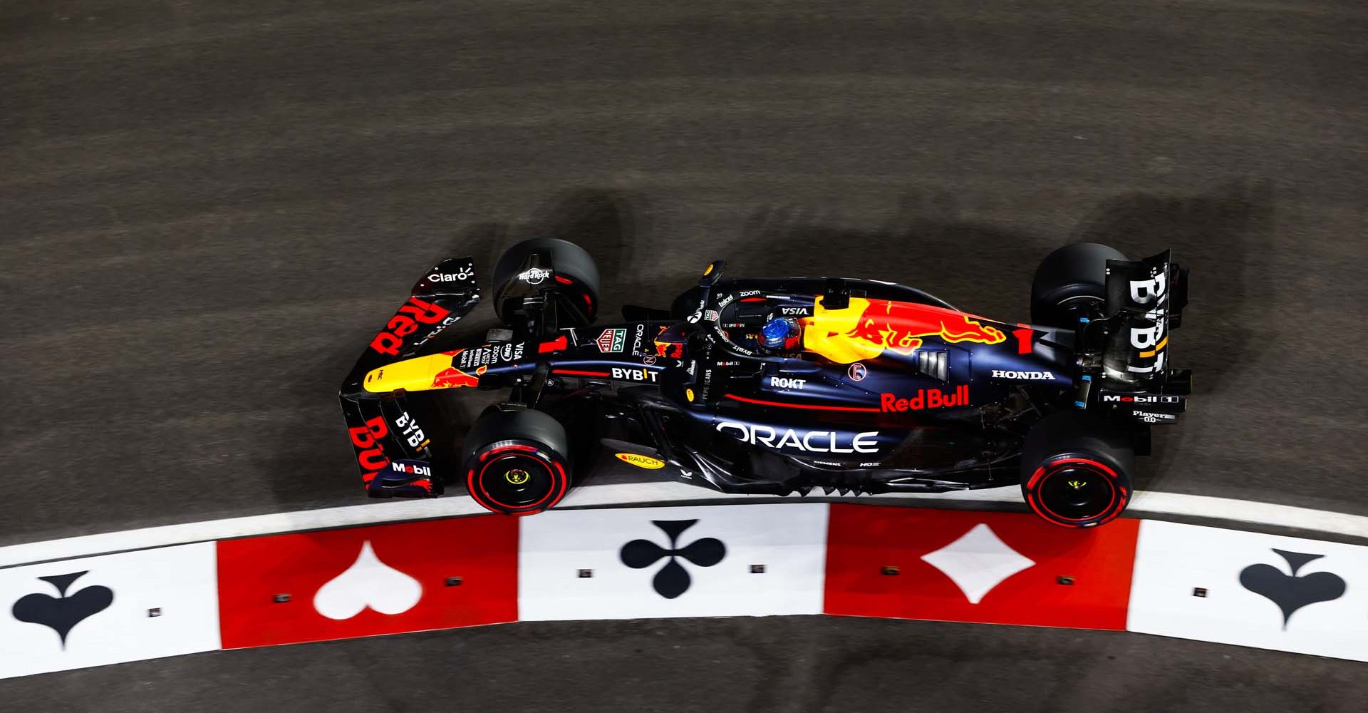
[[[460,480],[490,510],[529,515],[607,445],[736,494],[1019,483],[1041,517],[1090,527],[1126,508],[1150,427],[1178,420],[1190,393],[1190,371],[1167,363],[1187,301],[1168,252],[1055,250],[1036,271],[1031,324],[889,282],[724,281],[722,268],[670,309],[625,307],[624,322],[594,326],[590,255],[529,239],[494,268],[502,327],[443,348],[435,338],[480,290],[471,259],[438,264],[342,386],[367,493],[435,497]],[[458,441],[420,426],[412,398],[451,389],[506,396]]]

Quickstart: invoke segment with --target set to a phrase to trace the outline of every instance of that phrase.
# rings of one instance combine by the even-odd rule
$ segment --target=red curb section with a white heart
[[[492,515],[219,542],[223,647],[517,621],[517,543]]]

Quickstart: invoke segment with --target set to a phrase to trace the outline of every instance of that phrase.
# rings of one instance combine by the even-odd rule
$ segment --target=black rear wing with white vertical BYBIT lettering
[[[1100,404],[1144,423],[1171,423],[1186,408],[1192,371],[1171,367],[1170,330],[1187,307],[1187,268],[1170,250],[1107,261],[1105,317],[1079,324],[1078,406]]]

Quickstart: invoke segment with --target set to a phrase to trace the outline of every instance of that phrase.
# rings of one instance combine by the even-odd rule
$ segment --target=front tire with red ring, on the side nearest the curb
[[[565,427],[540,411],[490,411],[465,435],[462,474],[475,502],[501,515],[554,506],[570,487]]]

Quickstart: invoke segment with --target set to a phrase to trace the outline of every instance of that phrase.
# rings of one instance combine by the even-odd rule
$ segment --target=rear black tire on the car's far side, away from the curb
[[[1047,255],[1030,285],[1031,324],[1073,328],[1078,317],[1100,315],[1107,302],[1107,260],[1126,256],[1096,242],[1075,242]]]

